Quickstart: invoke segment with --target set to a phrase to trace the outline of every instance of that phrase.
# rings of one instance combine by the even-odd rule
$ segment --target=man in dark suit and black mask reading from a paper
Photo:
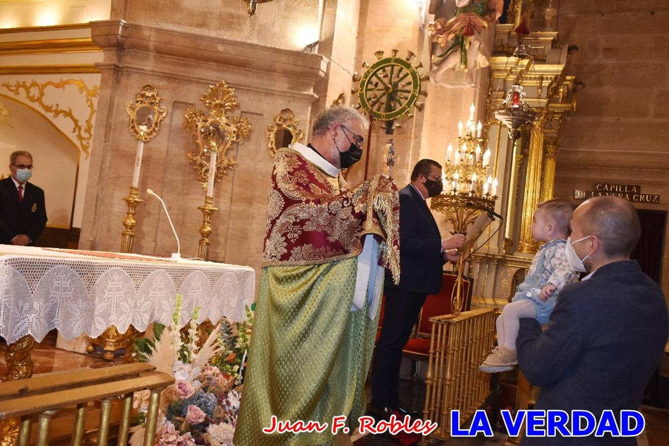
[[[399,191],[400,281],[395,286],[386,273],[383,328],[372,362],[369,411],[380,418],[389,416],[393,409],[405,411],[397,396],[402,348],[427,294],[436,294],[442,288],[444,263],[458,260],[455,249],[465,241],[460,234],[442,239],[425,203],[425,199],[439,195],[442,188],[442,166],[423,159],[413,167],[411,183]]]

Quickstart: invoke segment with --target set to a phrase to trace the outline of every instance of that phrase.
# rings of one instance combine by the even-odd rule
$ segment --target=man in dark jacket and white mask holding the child
[[[571,219],[567,259],[589,273],[567,285],[548,327],[521,319],[518,364],[541,387],[535,409],[638,409],[667,340],[662,290],[630,253],[641,235],[636,210],[618,197],[595,197]],[[569,423],[571,425],[571,423]],[[526,437],[521,445],[636,445],[634,437]]]

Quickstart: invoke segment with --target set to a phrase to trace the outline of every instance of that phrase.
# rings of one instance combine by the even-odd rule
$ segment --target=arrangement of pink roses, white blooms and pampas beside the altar
[[[244,322],[221,321],[201,343],[197,334],[198,308],[195,308],[187,335],[182,337],[179,331],[181,300],[177,295],[169,327],[155,324],[153,341],[136,342],[140,360],[175,376],[175,384],[161,395],[154,444],[233,446],[253,323],[252,310],[246,308]],[[133,406],[138,411],[138,424],[130,429],[130,446],[140,446],[144,444],[149,391],[136,392]]]

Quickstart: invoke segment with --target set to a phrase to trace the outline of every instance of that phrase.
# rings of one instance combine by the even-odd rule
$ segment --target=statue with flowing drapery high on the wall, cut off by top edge
[[[446,19],[450,0],[434,0],[430,12],[432,46],[432,79],[440,84],[446,70],[466,70],[466,81],[474,85],[474,70],[488,66],[482,54],[481,33],[502,15],[504,0],[455,0],[455,15]]]

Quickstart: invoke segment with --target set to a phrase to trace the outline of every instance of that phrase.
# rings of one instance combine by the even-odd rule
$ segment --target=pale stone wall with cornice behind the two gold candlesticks
[[[159,201],[146,193],[151,188],[171,211],[183,256],[197,256],[202,222],[197,207],[205,193],[187,160],[193,142],[183,129],[183,114],[193,107],[208,113],[199,98],[209,85],[225,80],[240,102],[230,114],[248,118],[252,130],[231,150],[237,160],[233,171],[216,183],[219,211],[212,218],[210,259],[260,267],[274,162],[267,127],[284,108],[292,109],[303,129],[308,127],[314,86],[325,72],[322,56],[122,21],[93,23],[92,36],[104,51],[89,174],[89,184],[97,187],[86,194],[80,247],[120,248],[122,199],[128,195],[135,150],[125,106],[151,84],[168,114],[161,132],[144,148],[139,189],[145,202],[137,210],[133,251],[169,255],[176,249]]]

